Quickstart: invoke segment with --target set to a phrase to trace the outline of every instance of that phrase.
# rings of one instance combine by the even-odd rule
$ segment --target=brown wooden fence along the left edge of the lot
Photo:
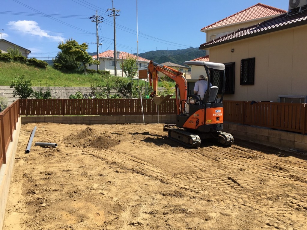
[[[19,117],[19,100],[0,113],[0,168],[6,164],[6,151],[11,141]]]

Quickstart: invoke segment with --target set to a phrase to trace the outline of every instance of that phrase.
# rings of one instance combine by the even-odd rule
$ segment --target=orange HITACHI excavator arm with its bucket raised
[[[173,68],[159,65],[150,61],[148,65],[148,71],[150,73],[149,80],[150,86],[153,87],[153,92],[150,94],[150,97],[154,99],[154,102],[157,105],[165,103],[172,95],[166,96],[157,96],[158,92],[158,72],[160,71],[165,76],[173,79],[176,82],[176,104],[177,104],[177,114],[181,113],[181,109],[184,109],[185,100],[187,99],[187,81],[178,70]]]

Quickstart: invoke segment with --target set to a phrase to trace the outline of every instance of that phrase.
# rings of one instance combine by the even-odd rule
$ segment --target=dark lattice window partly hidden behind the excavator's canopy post
[[[212,86],[219,87],[219,94],[222,93],[223,72],[210,70]],[[235,93],[235,62],[225,63],[225,94]]]

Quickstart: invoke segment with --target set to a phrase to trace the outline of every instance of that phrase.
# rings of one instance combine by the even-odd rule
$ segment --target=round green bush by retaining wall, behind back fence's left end
[[[10,88],[14,88],[12,93],[14,98],[18,96],[20,99],[27,99],[34,93],[31,87],[31,80],[25,79],[25,75],[15,77]]]

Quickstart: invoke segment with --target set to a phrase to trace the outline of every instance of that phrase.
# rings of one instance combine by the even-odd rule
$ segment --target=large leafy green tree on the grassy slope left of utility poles
[[[89,55],[86,50],[88,45],[86,43],[78,44],[75,40],[69,39],[65,43],[61,42],[58,48],[66,55],[72,55],[75,57],[76,61],[83,64],[84,73],[86,74],[86,69],[88,64],[98,65],[99,61],[94,61],[92,56]]]

